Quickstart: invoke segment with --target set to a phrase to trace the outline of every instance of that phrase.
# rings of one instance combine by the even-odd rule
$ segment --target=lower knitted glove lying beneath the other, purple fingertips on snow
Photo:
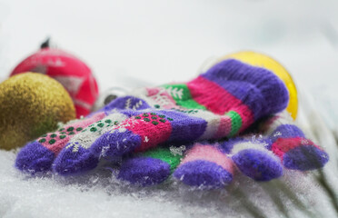
[[[153,149],[147,158],[145,153],[141,154],[143,157],[127,159],[118,178],[141,185],[157,184],[178,166],[174,171],[177,180],[199,188],[220,188],[231,183],[233,166],[255,181],[270,181],[282,176],[283,167],[308,171],[328,162],[328,154],[304,138],[303,131],[293,124],[287,112],[264,121],[261,130],[265,136],[251,134],[221,143],[187,146],[179,165],[177,159],[182,154],[170,153],[168,147]],[[175,151],[173,147],[171,150]]]

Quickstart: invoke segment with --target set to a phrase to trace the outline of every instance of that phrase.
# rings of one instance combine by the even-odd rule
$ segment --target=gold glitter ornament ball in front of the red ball
[[[71,97],[47,75],[17,74],[0,84],[0,149],[23,146],[72,119]]]

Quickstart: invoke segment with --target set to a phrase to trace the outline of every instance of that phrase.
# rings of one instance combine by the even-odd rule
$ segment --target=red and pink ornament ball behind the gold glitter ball
[[[98,87],[91,69],[72,54],[43,47],[18,64],[12,75],[25,72],[46,74],[63,84],[71,95],[76,117],[89,114],[98,96]]]

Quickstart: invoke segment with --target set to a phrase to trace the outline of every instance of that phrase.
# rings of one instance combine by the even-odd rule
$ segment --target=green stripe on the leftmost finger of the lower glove
[[[171,173],[173,173],[177,165],[181,163],[181,159],[182,159],[182,155],[172,154],[169,148],[160,148],[160,147],[146,151],[142,155],[146,157],[160,159],[161,161],[168,163],[170,165]]]

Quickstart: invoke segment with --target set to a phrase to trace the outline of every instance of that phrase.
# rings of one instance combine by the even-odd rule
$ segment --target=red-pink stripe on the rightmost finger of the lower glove
[[[313,141],[302,137],[279,138],[273,143],[271,150],[273,151],[273,154],[276,154],[283,161],[283,154],[302,145],[313,145],[322,150],[322,148],[317,144],[314,144]]]

